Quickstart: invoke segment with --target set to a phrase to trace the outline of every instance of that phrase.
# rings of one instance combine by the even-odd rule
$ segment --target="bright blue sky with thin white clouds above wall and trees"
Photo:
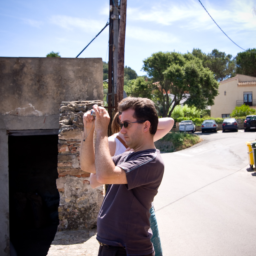
[[[159,51],[236,57],[256,48],[256,0],[127,0],[124,65],[146,75],[143,60]],[[109,0],[0,0],[0,56],[75,58],[109,19]],[[79,58],[108,61],[109,27]],[[243,50],[244,49],[244,50]]]

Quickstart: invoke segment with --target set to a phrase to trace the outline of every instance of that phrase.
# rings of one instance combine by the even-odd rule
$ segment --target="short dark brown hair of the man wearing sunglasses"
[[[128,109],[134,109],[134,118],[137,121],[149,121],[150,133],[154,135],[158,126],[158,114],[154,102],[148,98],[127,97],[118,105],[119,114]]]

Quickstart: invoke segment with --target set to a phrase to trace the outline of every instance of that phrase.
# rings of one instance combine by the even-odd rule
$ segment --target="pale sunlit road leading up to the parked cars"
[[[162,154],[154,206],[164,256],[255,256],[256,173],[245,142],[256,132],[196,134],[204,141]]]

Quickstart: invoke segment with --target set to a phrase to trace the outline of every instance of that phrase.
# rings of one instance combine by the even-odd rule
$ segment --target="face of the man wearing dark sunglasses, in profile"
[[[120,118],[121,123],[128,122],[129,124],[127,128],[123,126],[120,133],[123,134],[127,146],[136,151],[136,148],[142,144],[144,123],[131,123],[140,121],[133,117],[134,112],[133,109],[122,112]]]

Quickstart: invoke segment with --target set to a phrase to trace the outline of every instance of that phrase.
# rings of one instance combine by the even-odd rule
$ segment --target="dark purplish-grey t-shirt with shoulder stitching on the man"
[[[125,246],[127,255],[153,251],[149,223],[151,202],[164,174],[158,149],[124,152],[112,157],[126,172],[127,184],[112,184],[97,219],[97,240],[108,245]]]

